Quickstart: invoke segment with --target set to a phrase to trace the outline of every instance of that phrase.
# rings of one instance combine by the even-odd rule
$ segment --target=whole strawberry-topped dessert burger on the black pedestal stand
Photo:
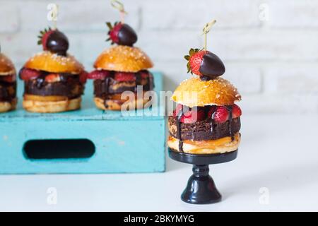
[[[212,52],[190,49],[185,56],[192,77],[183,81],[172,95],[177,102],[168,119],[172,151],[191,154],[218,154],[237,150],[240,144],[241,100],[237,89],[220,78],[223,62]]]

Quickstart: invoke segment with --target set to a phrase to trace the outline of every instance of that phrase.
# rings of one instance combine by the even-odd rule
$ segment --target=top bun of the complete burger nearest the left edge
[[[69,54],[64,57],[49,51],[35,54],[25,63],[24,67],[52,73],[78,74],[84,70],[83,65],[75,57]]]

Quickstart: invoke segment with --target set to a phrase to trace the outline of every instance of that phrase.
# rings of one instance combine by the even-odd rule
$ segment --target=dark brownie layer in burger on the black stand
[[[170,116],[168,118],[168,126],[170,135],[178,138],[177,136],[177,118]],[[208,141],[231,136],[240,131],[241,123],[240,117],[232,119],[225,123],[218,123],[212,119],[205,119],[203,121],[196,121],[194,124],[181,123],[181,138],[182,140],[193,141]]]

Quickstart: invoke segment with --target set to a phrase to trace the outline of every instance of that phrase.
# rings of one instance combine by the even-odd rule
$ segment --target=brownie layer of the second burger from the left
[[[84,85],[76,75],[61,76],[61,81],[48,83],[45,76],[25,81],[25,94],[76,98],[83,94]]]

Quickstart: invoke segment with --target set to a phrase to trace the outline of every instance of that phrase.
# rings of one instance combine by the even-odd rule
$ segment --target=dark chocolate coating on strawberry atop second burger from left
[[[64,33],[59,30],[55,30],[47,38],[47,49],[50,52],[66,56],[66,52],[69,49],[69,39],[66,35],[64,35]]]

